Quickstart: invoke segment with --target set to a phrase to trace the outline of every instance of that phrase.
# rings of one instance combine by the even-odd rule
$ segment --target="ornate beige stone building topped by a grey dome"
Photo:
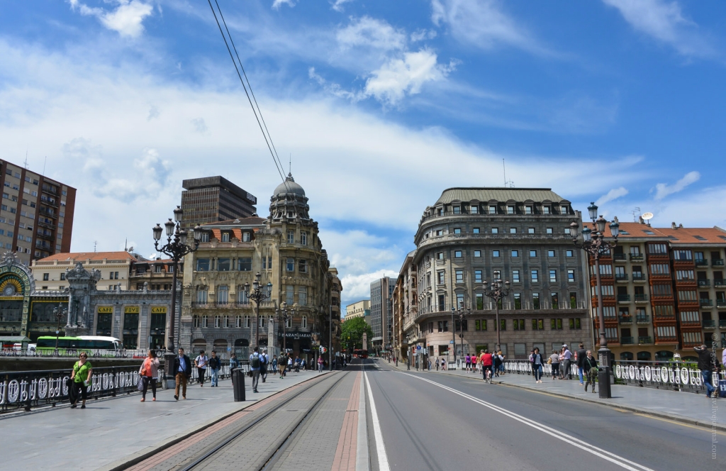
[[[342,287],[322,248],[317,222],[309,216],[305,190],[292,174],[275,188],[268,217],[201,227],[199,248],[184,260],[182,346],[193,353],[216,350],[223,358],[234,351],[244,358],[256,345],[279,353],[285,339],[293,355],[309,360],[319,345],[329,346],[327,333],[338,334]],[[246,283],[252,289],[256,273],[269,294],[259,305],[259,317],[245,290]],[[285,327],[279,316],[282,302],[293,314]]]

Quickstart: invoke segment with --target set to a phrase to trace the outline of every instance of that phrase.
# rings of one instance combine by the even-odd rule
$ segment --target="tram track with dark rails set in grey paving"
[[[190,435],[174,447],[159,450],[144,461],[119,469],[142,471],[275,469],[314,412],[352,371],[336,371],[295,391],[271,396],[229,416],[213,427]],[[264,403],[264,404],[263,404]],[[258,406],[256,410],[251,408]],[[247,419],[249,417],[249,419]],[[187,445],[187,446],[185,446]]]

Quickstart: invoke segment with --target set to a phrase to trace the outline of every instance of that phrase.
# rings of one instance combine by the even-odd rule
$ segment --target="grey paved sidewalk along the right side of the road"
[[[383,359],[378,361],[396,368],[394,362],[388,363]],[[401,371],[407,371],[405,363],[399,363],[397,368]],[[415,373],[416,369],[412,367],[409,372]],[[428,373],[428,371],[425,372]],[[482,379],[481,373],[473,374],[461,370],[436,371],[436,369],[432,369],[431,373]],[[726,399],[711,400],[703,394],[680,393],[652,387],[611,385],[611,395],[613,397],[611,399],[600,399],[598,394],[592,394],[590,391],[585,393],[584,386],[580,385],[578,379],[553,380],[551,377],[543,377],[542,383],[537,384],[534,382],[534,377],[529,374],[507,373],[499,378],[494,378],[494,382],[507,386],[524,387],[540,393],[587,400],[640,414],[677,420],[678,422],[698,424],[704,427],[713,425],[721,430],[726,430]]]

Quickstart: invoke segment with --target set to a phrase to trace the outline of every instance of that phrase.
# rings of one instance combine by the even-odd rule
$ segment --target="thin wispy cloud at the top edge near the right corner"
[[[618,9],[636,30],[669,44],[686,56],[708,57],[714,49],[698,32],[698,25],[683,17],[677,1],[603,0]]]

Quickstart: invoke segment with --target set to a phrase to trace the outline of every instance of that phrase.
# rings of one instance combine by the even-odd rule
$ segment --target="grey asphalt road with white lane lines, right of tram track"
[[[723,432],[486,385],[476,375],[365,363],[391,470],[726,469]],[[378,469],[380,444],[371,428],[372,467]]]

